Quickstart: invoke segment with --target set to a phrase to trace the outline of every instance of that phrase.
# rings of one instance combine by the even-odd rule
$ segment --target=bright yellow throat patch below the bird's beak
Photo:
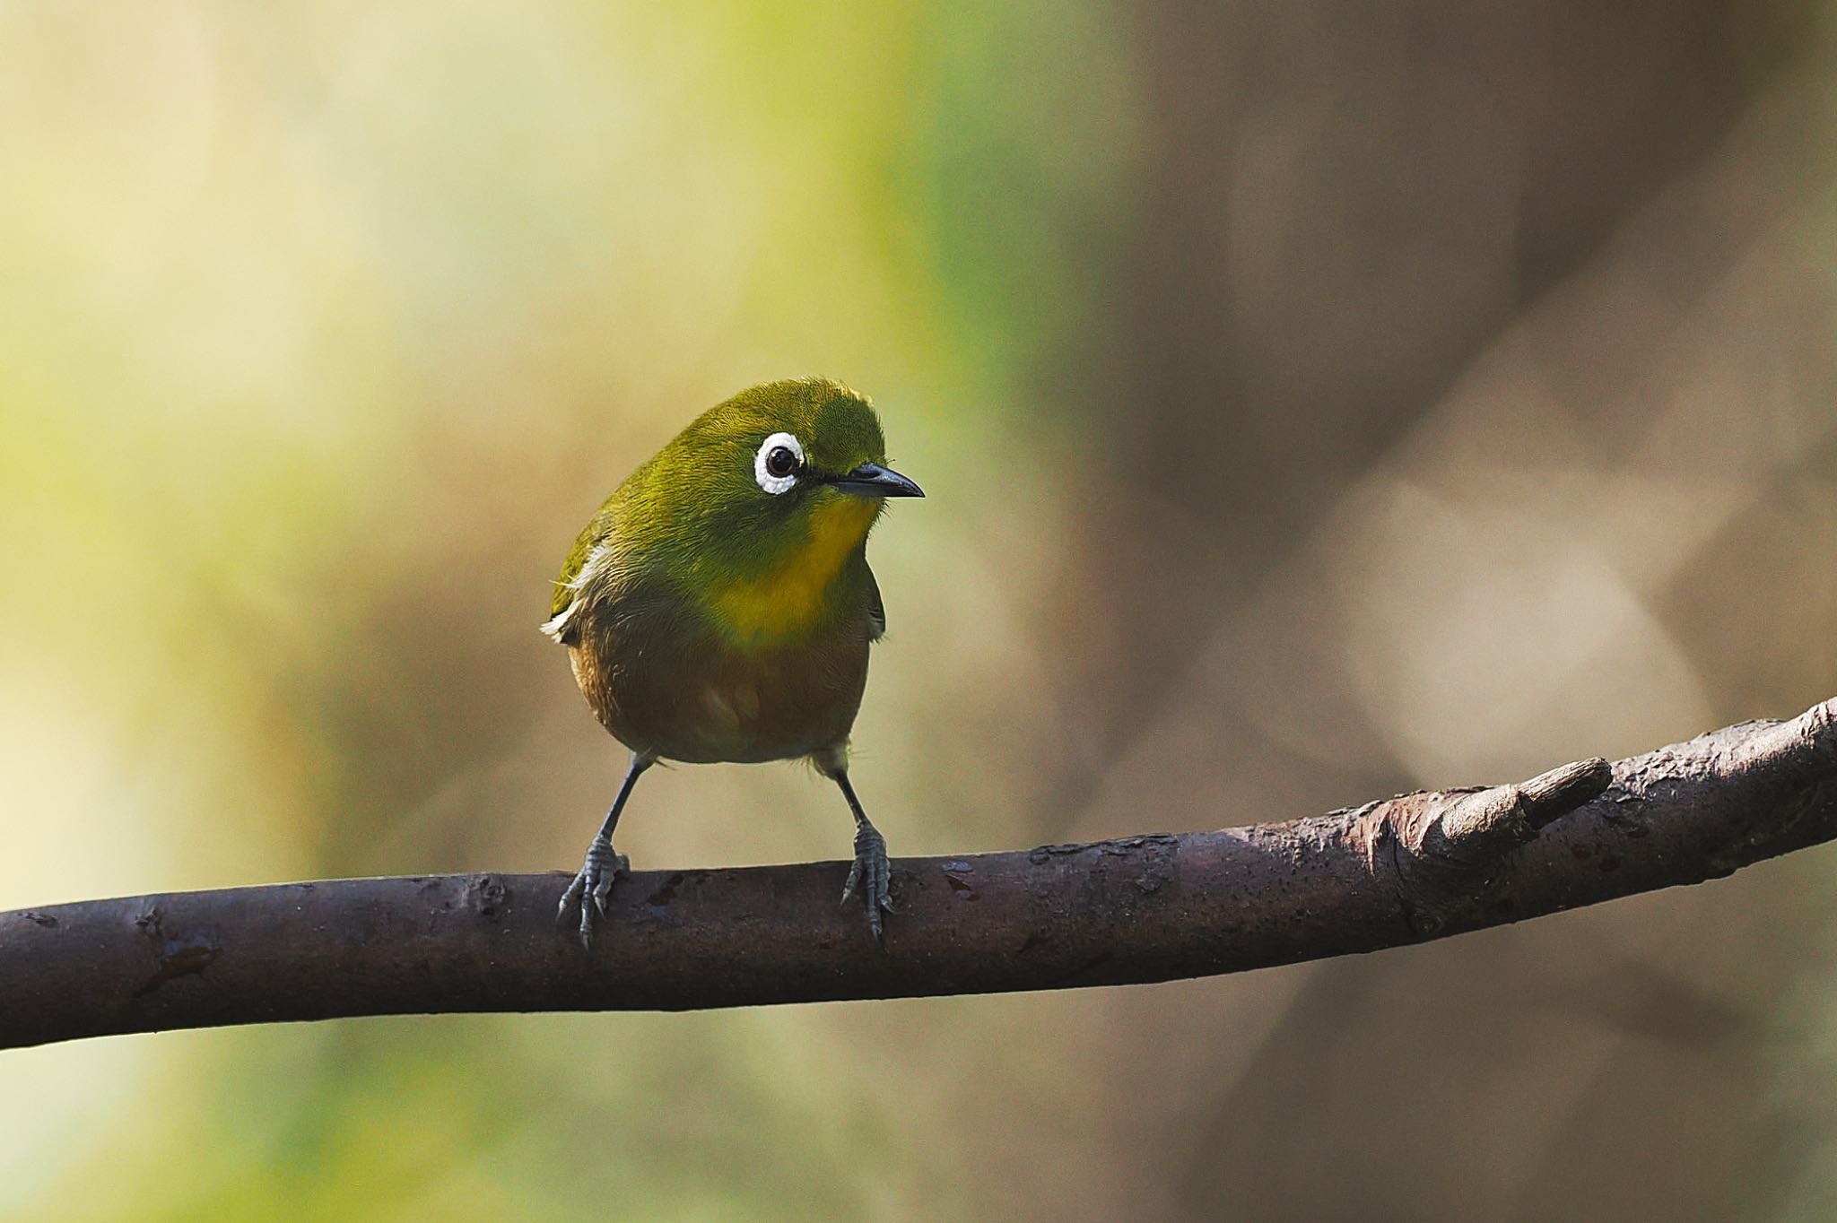
[[[746,645],[803,637],[821,621],[830,582],[878,512],[874,498],[834,496],[819,503],[810,512],[810,534],[766,573],[713,591],[709,604],[720,626]]]

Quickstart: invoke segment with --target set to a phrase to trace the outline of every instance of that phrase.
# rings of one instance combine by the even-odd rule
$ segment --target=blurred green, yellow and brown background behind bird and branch
[[[623,755],[549,580],[805,373],[930,492],[873,547],[895,854],[1797,714],[1833,13],[0,4],[0,909],[571,870]],[[849,832],[693,768],[621,847]],[[0,1217],[1826,1219],[1833,854],[1183,984],[6,1052]]]

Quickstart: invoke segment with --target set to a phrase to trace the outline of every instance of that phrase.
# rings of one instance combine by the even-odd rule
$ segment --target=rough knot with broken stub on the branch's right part
[[[1365,808],[1356,836],[1374,870],[1389,852],[1411,927],[1435,933],[1499,881],[1512,850],[1611,782],[1613,768],[1595,757],[1517,786],[1405,793]]]

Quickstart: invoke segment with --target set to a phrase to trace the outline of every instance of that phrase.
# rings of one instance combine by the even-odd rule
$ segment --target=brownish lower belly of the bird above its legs
[[[601,724],[634,751],[689,764],[788,760],[838,746],[867,685],[865,634],[764,654],[713,639],[632,657],[604,637],[597,650],[584,646],[573,652],[575,674]]]

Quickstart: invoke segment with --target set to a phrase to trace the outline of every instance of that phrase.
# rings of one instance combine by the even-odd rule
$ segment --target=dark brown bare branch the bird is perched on
[[[847,863],[329,880],[0,913],[0,1047],[336,1015],[694,1010],[1170,981],[1697,883],[1837,837],[1837,700],[1521,786],[1223,832],[904,858],[874,946]]]

